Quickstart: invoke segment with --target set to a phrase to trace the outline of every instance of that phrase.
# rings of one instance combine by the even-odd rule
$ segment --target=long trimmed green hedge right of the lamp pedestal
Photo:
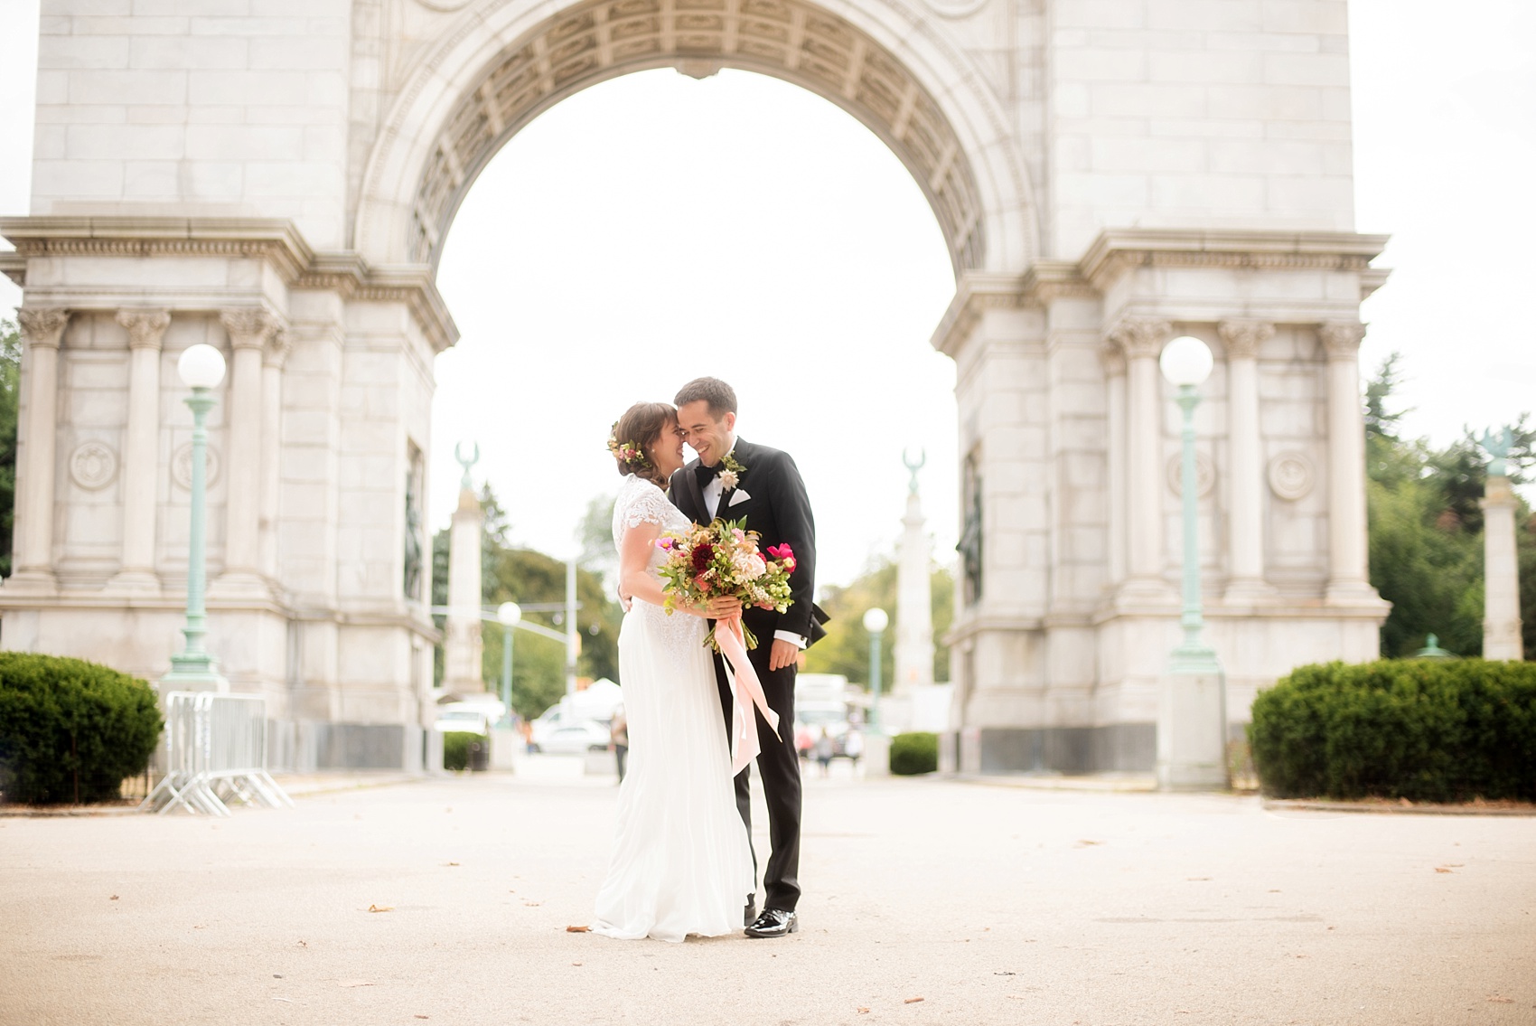
[[[1249,743],[1275,797],[1536,802],[1536,664],[1298,667],[1253,699]]]

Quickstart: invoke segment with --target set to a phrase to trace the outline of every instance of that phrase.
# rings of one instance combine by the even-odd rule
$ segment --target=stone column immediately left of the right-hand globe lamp
[[[1111,339],[1126,355],[1126,582],[1121,597],[1172,602],[1163,579],[1163,418],[1157,358],[1167,321],[1130,318]]]

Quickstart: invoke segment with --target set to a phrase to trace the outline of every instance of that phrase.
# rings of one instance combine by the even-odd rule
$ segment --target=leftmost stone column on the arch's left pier
[[[26,459],[17,479],[15,573],[9,588],[52,591],[54,458],[58,439],[58,344],[69,323],[61,307],[20,307],[26,344]]]

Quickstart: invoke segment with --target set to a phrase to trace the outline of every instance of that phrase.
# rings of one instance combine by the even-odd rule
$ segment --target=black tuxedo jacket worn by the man
[[[822,624],[826,614],[813,602],[816,593],[816,522],[811,518],[811,501],[805,495],[800,470],[788,453],[766,445],[736,439],[731,456],[745,470],[734,488],[720,493],[716,516],[723,521],[742,521],[750,531],[757,531],[757,544],[766,553],[770,545],[788,542],[794,550],[794,573],[790,574],[790,593],[794,602],[785,613],[773,610],[743,610],[742,622],[757,634],[765,648],[774,631],[790,631],[814,642],[826,634]],[[703,487],[691,461],[671,478],[673,505],[694,524],[710,522],[710,508],[703,502]],[[742,498],[745,496],[745,498]]]

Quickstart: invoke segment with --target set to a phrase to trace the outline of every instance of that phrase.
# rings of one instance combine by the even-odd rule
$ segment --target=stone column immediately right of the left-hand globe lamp
[[[276,329],[261,307],[238,307],[220,315],[233,361],[229,370],[229,427],[226,429],[224,571],[214,584],[223,597],[264,597],[261,581],[261,353]]]

